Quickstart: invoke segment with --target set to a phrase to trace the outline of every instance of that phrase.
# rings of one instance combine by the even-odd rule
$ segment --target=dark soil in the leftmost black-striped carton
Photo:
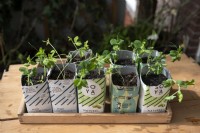
[[[38,74],[36,77],[31,77],[30,80],[32,81],[33,85],[43,83],[46,81],[46,78],[42,78],[42,74]],[[22,76],[22,85],[23,86],[29,86],[27,83],[27,76]]]

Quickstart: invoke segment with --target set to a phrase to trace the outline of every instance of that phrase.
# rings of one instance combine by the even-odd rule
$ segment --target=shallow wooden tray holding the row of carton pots
[[[20,123],[170,123],[172,111],[168,104],[164,113],[27,113],[24,100],[22,100],[18,118]]]

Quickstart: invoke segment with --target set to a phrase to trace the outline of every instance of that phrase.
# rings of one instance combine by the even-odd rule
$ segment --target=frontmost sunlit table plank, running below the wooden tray
[[[200,126],[186,124],[20,124],[2,122],[1,133],[198,133]]]

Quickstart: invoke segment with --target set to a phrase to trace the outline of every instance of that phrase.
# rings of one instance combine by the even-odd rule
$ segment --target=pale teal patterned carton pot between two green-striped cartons
[[[131,80],[135,80],[134,85],[119,85],[113,82],[114,74],[111,75],[111,112],[112,113],[133,113],[137,111],[137,103],[139,98],[139,76],[135,67],[116,68],[114,73],[118,73],[121,81],[125,82],[123,75],[134,73]],[[120,78],[119,77],[119,78]],[[124,78],[124,79],[123,79]]]

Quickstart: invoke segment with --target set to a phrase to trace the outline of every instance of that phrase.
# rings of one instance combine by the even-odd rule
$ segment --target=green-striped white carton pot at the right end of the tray
[[[139,110],[141,113],[145,112],[165,112],[167,107],[167,100],[169,96],[170,87],[164,87],[163,84],[157,86],[148,86],[142,80],[142,75],[148,71],[147,67],[143,67],[140,76],[141,89],[139,98]],[[162,72],[167,78],[171,78],[167,69],[163,69]]]

